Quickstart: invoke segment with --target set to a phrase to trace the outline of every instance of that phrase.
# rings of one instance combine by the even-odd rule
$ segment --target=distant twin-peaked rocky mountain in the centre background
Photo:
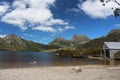
[[[62,37],[57,37],[49,45],[57,45],[60,47],[75,47],[78,44],[88,42],[90,39],[85,35],[73,35],[71,40],[66,40]]]

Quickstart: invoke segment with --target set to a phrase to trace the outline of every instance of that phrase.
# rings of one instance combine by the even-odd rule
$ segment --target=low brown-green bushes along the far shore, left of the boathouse
[[[54,51],[56,56],[62,57],[88,57],[88,56],[100,56],[100,49],[84,49],[84,50],[77,50],[77,49],[58,49]]]

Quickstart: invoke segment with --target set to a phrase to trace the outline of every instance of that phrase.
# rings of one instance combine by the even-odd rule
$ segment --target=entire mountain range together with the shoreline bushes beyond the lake
[[[25,40],[14,34],[0,38],[1,50],[28,50],[28,51],[49,51],[57,56],[64,57],[87,57],[99,56],[100,49],[104,42],[120,41],[120,29],[112,30],[106,36],[89,40],[86,36],[74,35],[72,40],[65,40],[58,37],[49,45]],[[118,56],[116,54],[115,56]],[[117,58],[117,57],[116,57]]]

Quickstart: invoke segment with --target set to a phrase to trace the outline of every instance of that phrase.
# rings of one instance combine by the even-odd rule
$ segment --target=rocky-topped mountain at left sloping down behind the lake
[[[0,49],[3,49],[3,50],[41,51],[41,50],[49,50],[49,49],[56,49],[56,48],[59,48],[59,47],[52,46],[52,45],[44,45],[44,44],[36,43],[33,41],[28,41],[15,34],[10,34],[5,36],[4,38],[0,38]]]

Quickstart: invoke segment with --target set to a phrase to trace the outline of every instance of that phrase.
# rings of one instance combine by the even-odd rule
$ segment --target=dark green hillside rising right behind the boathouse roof
[[[104,42],[119,42],[120,29],[110,31],[107,35],[88,41],[85,44],[79,44],[77,49],[100,49]]]

